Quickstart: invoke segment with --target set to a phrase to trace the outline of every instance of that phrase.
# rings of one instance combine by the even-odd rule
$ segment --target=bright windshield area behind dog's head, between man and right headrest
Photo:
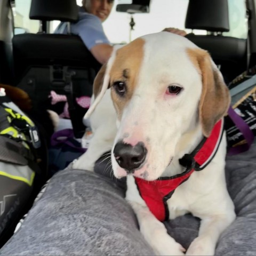
[[[151,0],[149,13],[135,13],[134,30],[130,28],[131,14],[116,12],[116,4],[103,23],[106,34],[113,43],[128,43],[130,39],[156,33],[166,27],[184,29],[188,0]]]

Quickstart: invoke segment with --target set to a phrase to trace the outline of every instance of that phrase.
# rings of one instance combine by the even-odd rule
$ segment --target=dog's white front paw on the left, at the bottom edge
[[[156,255],[185,255],[185,249],[177,243],[165,230],[159,230],[151,241],[148,241]]]

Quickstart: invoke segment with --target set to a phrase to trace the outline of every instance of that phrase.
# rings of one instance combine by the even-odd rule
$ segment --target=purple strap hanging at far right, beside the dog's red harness
[[[252,142],[254,140],[254,134],[250,129],[249,125],[246,124],[244,119],[241,116],[239,116],[231,106],[228,109],[228,115],[234,122],[234,124],[237,126],[237,128],[242,132],[247,142],[246,144],[230,148],[227,154],[231,156],[248,150],[251,147]]]

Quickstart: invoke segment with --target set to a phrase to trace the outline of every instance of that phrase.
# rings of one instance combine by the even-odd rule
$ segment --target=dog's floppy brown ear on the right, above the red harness
[[[199,102],[199,121],[205,137],[209,137],[215,123],[227,114],[230,94],[209,53],[202,49],[196,50],[196,53],[203,83]]]

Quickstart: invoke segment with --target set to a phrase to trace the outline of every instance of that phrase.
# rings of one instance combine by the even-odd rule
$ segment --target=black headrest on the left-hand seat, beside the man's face
[[[78,19],[78,7],[75,0],[32,0],[29,18],[74,22]]]

